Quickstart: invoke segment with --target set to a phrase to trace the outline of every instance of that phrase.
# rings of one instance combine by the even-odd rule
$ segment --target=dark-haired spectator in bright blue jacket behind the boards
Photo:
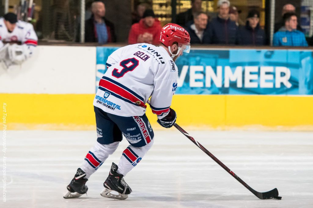
[[[284,14],[285,27],[274,34],[273,46],[308,46],[303,32],[297,30],[297,15]]]

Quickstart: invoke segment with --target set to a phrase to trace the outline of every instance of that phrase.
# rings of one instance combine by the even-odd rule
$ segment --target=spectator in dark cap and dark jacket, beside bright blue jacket
[[[265,45],[266,36],[260,28],[260,13],[257,10],[251,10],[247,16],[245,26],[239,27],[239,44],[240,45]]]

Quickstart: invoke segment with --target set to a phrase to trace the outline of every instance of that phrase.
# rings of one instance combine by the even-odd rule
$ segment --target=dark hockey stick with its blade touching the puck
[[[147,101],[150,104],[150,100]],[[183,133],[190,141],[192,141],[198,148],[202,149],[209,157],[211,157],[215,162],[217,162],[221,167],[224,168],[232,177],[234,177],[237,181],[239,181],[244,187],[246,187],[249,191],[251,191],[256,197],[259,199],[281,199],[281,196],[278,196],[277,188],[267,191],[267,192],[258,192],[251,188],[248,184],[246,184],[241,178],[239,178],[233,171],[231,171],[223,162],[219,161],[211,152],[209,152],[206,148],[204,148],[198,141],[196,141],[192,136],[190,136],[182,127],[180,127],[177,123],[174,124],[175,128],[178,129],[181,133]]]

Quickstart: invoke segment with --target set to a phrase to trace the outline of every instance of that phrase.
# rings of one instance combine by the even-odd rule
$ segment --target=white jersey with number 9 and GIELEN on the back
[[[177,66],[161,46],[148,43],[125,46],[108,58],[94,106],[110,114],[141,116],[150,99],[152,112],[165,117],[177,88]]]

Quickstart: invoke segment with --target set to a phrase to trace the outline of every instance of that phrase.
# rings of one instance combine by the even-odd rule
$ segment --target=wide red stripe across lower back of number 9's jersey
[[[136,98],[133,94],[130,92],[126,91],[125,89],[121,88],[120,86],[114,85],[113,83],[101,79],[99,82],[99,86],[104,87],[118,95],[121,95],[122,97],[129,99],[131,102],[138,104],[141,107],[146,108],[147,106],[140,101],[138,98]]]

